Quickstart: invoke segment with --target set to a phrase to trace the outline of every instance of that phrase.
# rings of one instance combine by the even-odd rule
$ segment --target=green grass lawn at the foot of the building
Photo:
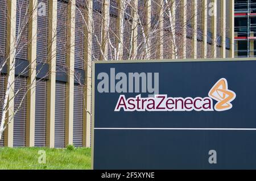
[[[46,163],[39,163],[39,150]],[[90,169],[90,149],[0,148],[0,169]]]

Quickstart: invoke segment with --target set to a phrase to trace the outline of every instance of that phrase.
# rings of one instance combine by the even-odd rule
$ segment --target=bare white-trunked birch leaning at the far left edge
[[[6,19],[10,21],[11,17],[7,9],[7,3],[9,0],[0,0],[2,1],[2,4],[5,5],[5,8],[1,9],[1,15],[5,15]],[[32,43],[34,40],[40,39],[40,31],[46,31],[47,27],[40,27],[38,26],[38,30],[35,36],[29,37],[28,36],[28,27],[30,26],[32,21],[37,21],[38,16],[43,16],[43,18],[48,18],[48,0],[38,0],[38,3],[36,5],[31,4],[32,1],[29,0],[17,0],[16,1],[16,33],[13,36],[14,42],[11,42],[10,44],[13,44],[14,47],[10,49],[9,52],[6,52],[5,54],[2,53],[2,62],[0,65],[0,73],[4,74],[6,79],[5,83],[5,94],[3,98],[1,98],[1,121],[0,121],[0,140],[2,139],[3,132],[6,130],[8,125],[14,121],[14,116],[16,113],[18,113],[23,108],[23,104],[26,104],[26,96],[28,94],[28,91],[33,90],[35,91],[35,86],[40,83],[40,79],[47,78],[49,73],[46,73],[44,77],[36,79],[37,75],[40,73],[41,69],[36,70],[33,69],[32,71],[36,71],[36,76],[31,77],[29,71],[31,69],[32,64],[35,62],[45,64],[47,62],[48,57],[48,50],[52,47],[52,41],[56,39],[57,37],[57,31],[55,31],[52,36],[52,40],[49,40],[48,33],[47,35],[43,35],[46,37],[43,37],[44,40],[46,40],[47,47],[42,50],[42,52],[37,51],[36,52],[36,58],[34,60],[27,61],[27,53],[28,53],[28,46]],[[37,14],[37,16],[33,16],[33,14]],[[64,14],[67,15],[67,14]],[[64,15],[63,18],[68,18]],[[60,23],[60,29],[67,28],[67,24],[63,22]],[[62,27],[62,28],[61,28]],[[42,39],[41,39],[42,40]],[[49,40],[49,41],[48,41]],[[60,41],[61,42],[61,41]],[[68,45],[66,43],[63,43],[61,45],[58,45],[59,47],[67,47]],[[65,47],[65,48],[66,48]],[[55,52],[60,53],[61,49],[59,49],[59,52],[56,50],[56,47],[53,47],[55,49]],[[3,51],[3,50],[1,50]],[[3,51],[5,52],[5,51]],[[61,54],[61,53],[60,53]],[[52,55],[53,57],[56,57],[56,54]],[[46,60],[44,60],[46,59]],[[20,63],[21,61],[26,61],[27,64]],[[40,62],[40,60],[44,60],[43,62]],[[48,61],[49,62],[49,61]],[[26,66],[24,66],[26,65]],[[22,69],[19,68],[19,66],[22,66]],[[14,81],[11,81],[13,79],[13,74],[10,73],[4,73],[3,70],[9,67],[10,71],[15,71],[15,77]],[[20,72],[17,72],[16,69],[20,69]],[[62,69],[62,70],[61,70]],[[65,65],[63,68],[60,66],[60,70],[57,71],[66,71]],[[20,81],[20,77],[26,77],[27,79],[31,79],[30,83],[23,84]],[[14,86],[15,83],[15,86]],[[13,90],[13,87],[15,89]],[[14,95],[10,94],[10,92],[13,91]],[[14,107],[9,106],[9,102],[15,100]],[[10,115],[6,115],[8,111],[14,110],[14,112],[11,112]],[[9,117],[8,117],[9,116]]]

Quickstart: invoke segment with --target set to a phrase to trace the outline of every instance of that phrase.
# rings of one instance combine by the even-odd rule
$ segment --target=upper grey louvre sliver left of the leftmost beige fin
[[[0,57],[4,57],[6,53],[6,0],[0,0],[0,14]]]

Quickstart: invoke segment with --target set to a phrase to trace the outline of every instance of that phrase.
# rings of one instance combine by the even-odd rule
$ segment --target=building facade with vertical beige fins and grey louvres
[[[0,0],[0,11],[0,146],[89,147],[92,61],[234,57],[232,0]]]

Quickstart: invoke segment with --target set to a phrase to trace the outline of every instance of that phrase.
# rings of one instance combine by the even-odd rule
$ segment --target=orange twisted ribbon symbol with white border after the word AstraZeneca
[[[232,108],[232,100],[236,98],[236,93],[228,89],[228,82],[221,78],[209,91],[209,97],[217,100],[214,106],[216,111],[225,111]]]

